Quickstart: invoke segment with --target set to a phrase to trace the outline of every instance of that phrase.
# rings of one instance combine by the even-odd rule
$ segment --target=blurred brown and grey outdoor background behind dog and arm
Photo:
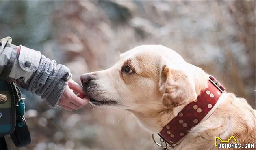
[[[6,36],[67,65],[79,83],[119,53],[162,44],[255,108],[255,1],[0,1]],[[24,97],[32,143],[19,149],[160,149],[123,110],[67,112]],[[11,140],[8,146],[15,149]]]

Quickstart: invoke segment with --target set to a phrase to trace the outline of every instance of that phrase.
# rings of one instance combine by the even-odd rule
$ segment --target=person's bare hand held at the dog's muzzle
[[[78,92],[78,94],[76,95],[72,90]],[[63,94],[61,95],[58,105],[63,107],[65,110],[72,111],[74,109],[77,110],[88,102],[89,98],[85,95],[81,85],[70,79],[68,80]]]

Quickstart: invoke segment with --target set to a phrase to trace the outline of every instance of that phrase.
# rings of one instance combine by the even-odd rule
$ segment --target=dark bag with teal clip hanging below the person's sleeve
[[[30,133],[25,120],[25,103],[16,82],[0,79],[0,135],[1,148],[7,149],[4,136],[11,135],[17,147],[31,143]],[[2,141],[3,140],[3,141]],[[2,145],[2,143],[5,143]]]

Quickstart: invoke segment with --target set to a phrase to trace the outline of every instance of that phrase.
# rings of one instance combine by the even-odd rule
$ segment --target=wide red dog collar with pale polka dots
[[[213,113],[217,108],[215,104],[224,91],[225,88],[213,76],[209,76],[208,88],[201,92],[196,101],[187,104],[158,135],[169,144],[177,145],[192,127],[208,118],[207,114]]]

